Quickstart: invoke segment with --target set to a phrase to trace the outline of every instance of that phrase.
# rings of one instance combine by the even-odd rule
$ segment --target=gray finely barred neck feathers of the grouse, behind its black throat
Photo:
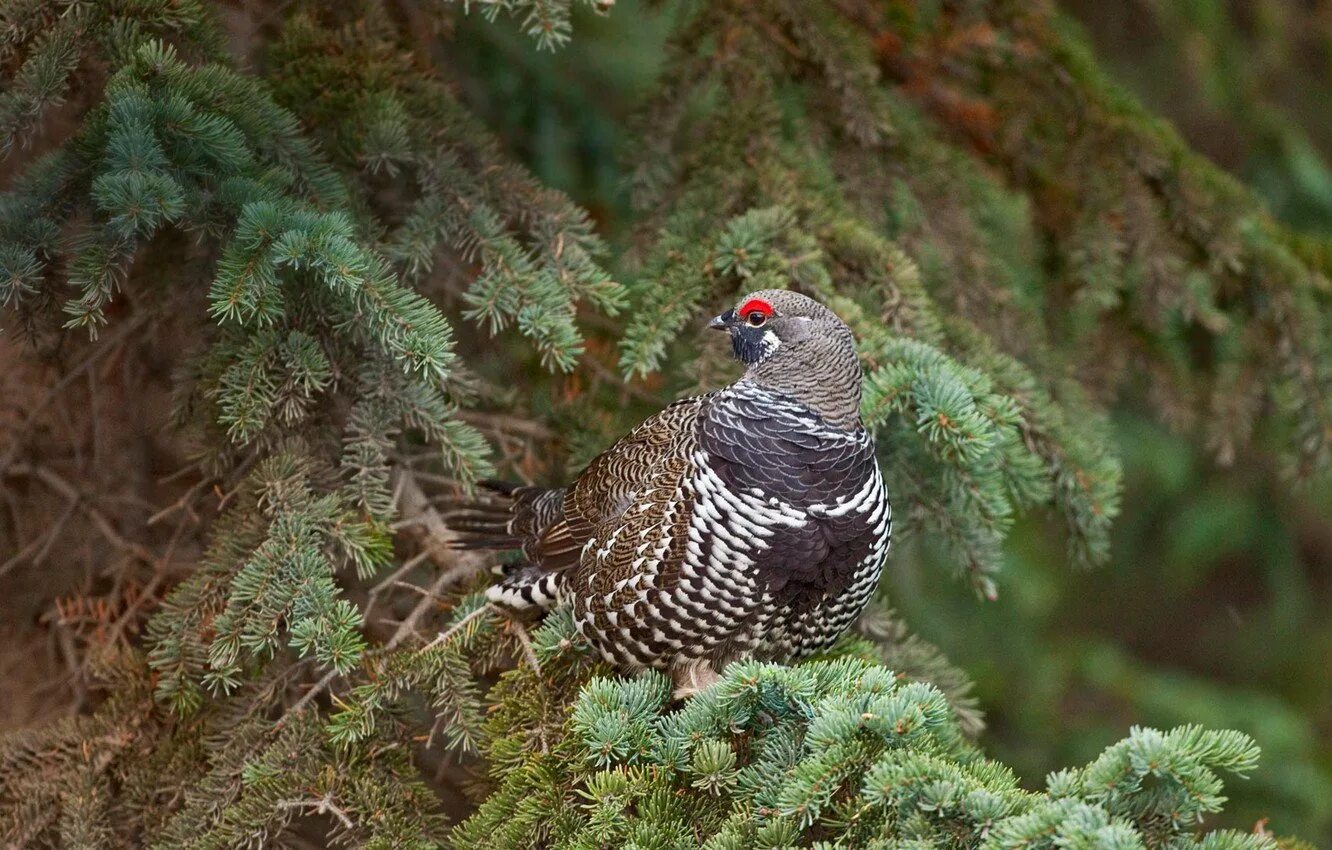
[[[819,321],[811,330],[750,366],[742,380],[793,396],[832,425],[859,428],[860,362],[855,338],[840,321]]]

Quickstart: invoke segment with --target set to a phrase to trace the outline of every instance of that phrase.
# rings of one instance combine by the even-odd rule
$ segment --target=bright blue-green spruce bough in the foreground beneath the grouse
[[[543,632],[542,670],[567,665],[561,654],[577,651],[567,620]],[[523,705],[515,691],[543,687],[514,675],[535,681],[506,683],[506,711]],[[1257,761],[1240,733],[1134,729],[1031,793],[980,755],[938,689],[858,658],[737,662],[674,709],[670,691],[657,673],[591,678],[539,747],[530,735],[541,703],[492,719],[498,790],[453,846],[1275,846],[1195,835],[1224,801],[1219,774]]]

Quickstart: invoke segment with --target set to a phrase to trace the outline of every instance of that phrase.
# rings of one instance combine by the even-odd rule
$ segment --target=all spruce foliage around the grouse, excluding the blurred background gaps
[[[573,5],[273,4],[253,61],[202,4],[0,5],[7,326],[96,358],[184,325],[170,434],[192,458],[153,518],[89,512],[117,569],[157,570],[115,605],[152,613],[141,641],[80,649],[96,706],[0,743],[0,837],[1268,850],[1199,830],[1219,774],[1253,767],[1244,735],[1139,729],[1022,790],[972,742],[966,677],[886,612],[836,657],[737,663],[673,706],[567,618],[529,634],[474,593],[488,565],[448,549],[436,502],[493,446],[505,472],[565,472],[531,460],[555,442],[537,420],[577,430],[571,466],[715,384],[729,366],[683,329],[765,286],[851,324],[900,528],[986,597],[1023,512],[1106,560],[1126,370],[1223,460],[1260,426],[1295,477],[1332,460],[1332,254],[1048,9],[682,4],[613,262],[430,61],[449,41],[412,43],[480,7],[562,47]],[[0,477],[60,486],[24,436]],[[166,581],[186,534],[202,550]]]

